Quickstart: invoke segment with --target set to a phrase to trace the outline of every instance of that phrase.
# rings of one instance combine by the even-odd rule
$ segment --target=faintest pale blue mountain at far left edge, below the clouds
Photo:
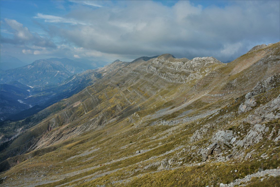
[[[13,68],[18,68],[25,66],[27,63],[24,63],[17,59],[16,57],[10,55],[0,55],[0,69],[9,70]]]

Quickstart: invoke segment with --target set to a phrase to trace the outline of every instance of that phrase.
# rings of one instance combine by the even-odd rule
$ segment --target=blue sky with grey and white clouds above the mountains
[[[0,53],[112,62],[170,53],[229,62],[280,40],[280,1],[0,0]]]

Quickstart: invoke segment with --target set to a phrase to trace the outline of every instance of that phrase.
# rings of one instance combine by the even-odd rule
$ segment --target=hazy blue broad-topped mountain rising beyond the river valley
[[[31,87],[44,87],[48,84],[59,84],[75,73],[94,68],[91,64],[68,58],[40,59],[20,68],[2,71],[1,83],[15,80]]]

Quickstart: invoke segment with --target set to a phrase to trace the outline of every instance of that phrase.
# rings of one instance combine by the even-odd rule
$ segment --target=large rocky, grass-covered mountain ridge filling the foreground
[[[279,42],[227,64],[163,54],[96,73],[81,92],[1,123],[2,185],[279,184]]]

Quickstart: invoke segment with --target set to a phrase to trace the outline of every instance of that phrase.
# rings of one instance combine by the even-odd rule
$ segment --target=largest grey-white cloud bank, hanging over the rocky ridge
[[[172,7],[152,1],[125,3],[94,10],[79,7],[67,16],[87,24],[54,28],[52,33],[88,50],[85,55],[118,54],[127,59],[171,53],[228,61],[246,53],[251,41],[271,43],[279,38],[279,10],[273,8],[279,2],[275,1],[204,9],[188,1]]]

